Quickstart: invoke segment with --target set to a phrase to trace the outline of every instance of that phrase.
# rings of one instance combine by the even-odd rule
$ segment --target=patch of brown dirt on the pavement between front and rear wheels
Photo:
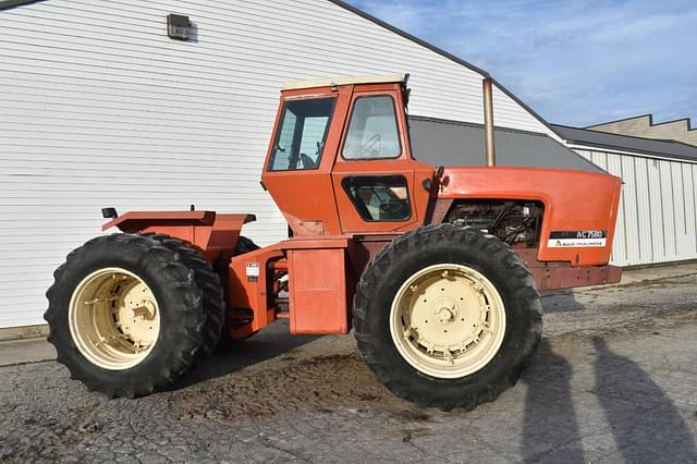
[[[284,359],[281,365],[267,363],[179,391],[171,405],[183,418],[240,419],[356,404],[393,411],[396,406],[398,414],[409,417],[417,413],[376,380],[358,353]]]

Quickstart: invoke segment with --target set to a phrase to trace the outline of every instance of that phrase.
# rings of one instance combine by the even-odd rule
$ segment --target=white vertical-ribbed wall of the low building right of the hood
[[[572,146],[622,178],[612,262],[636,266],[697,259],[697,162]]]

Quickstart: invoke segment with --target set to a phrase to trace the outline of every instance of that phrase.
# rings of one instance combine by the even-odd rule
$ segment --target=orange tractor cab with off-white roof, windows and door
[[[288,84],[262,185],[294,235],[423,224],[433,168],[413,159],[404,75]]]

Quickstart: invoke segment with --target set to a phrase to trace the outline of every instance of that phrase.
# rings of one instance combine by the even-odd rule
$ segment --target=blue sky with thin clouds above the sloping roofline
[[[652,113],[697,127],[697,0],[350,3],[489,72],[549,122]]]

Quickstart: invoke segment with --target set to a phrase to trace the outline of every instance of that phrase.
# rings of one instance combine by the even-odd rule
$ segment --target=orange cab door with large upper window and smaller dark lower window
[[[332,169],[343,233],[384,233],[425,222],[433,169],[412,159],[401,87],[354,91]]]

